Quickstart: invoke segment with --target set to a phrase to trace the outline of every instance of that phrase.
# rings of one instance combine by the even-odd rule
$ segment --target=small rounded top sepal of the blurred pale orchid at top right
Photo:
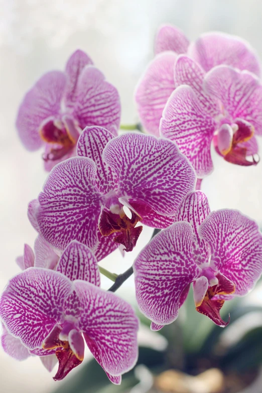
[[[186,53],[189,40],[182,30],[173,25],[163,25],[159,28],[155,39],[155,53],[174,51]]]

